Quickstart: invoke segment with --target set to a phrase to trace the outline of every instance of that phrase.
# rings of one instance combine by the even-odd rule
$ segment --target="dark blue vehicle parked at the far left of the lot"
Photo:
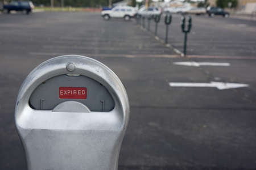
[[[12,1],[8,5],[3,5],[3,12],[10,13],[10,11],[22,11],[23,14],[29,14],[34,5],[31,1]]]

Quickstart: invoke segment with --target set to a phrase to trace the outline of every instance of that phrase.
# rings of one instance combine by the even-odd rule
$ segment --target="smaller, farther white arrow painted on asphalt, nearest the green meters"
[[[183,65],[183,66],[230,66],[230,63],[226,62],[174,62],[174,65]]]

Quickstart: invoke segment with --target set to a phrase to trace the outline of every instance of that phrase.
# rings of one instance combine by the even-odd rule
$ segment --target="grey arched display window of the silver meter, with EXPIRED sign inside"
[[[52,110],[65,101],[78,101],[90,111],[109,112],[114,108],[110,92],[84,75],[58,75],[40,84],[30,96],[32,109]]]

